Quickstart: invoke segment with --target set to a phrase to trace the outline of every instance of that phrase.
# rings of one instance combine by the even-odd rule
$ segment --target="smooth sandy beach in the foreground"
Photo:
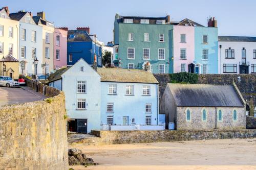
[[[74,169],[256,169],[256,138],[83,146],[96,166]]]

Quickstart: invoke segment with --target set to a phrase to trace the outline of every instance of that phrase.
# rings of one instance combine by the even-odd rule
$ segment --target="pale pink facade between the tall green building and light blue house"
[[[188,65],[195,60],[195,29],[174,26],[174,73],[188,72]]]

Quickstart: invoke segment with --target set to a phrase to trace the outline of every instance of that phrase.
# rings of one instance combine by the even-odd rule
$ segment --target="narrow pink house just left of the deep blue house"
[[[54,69],[67,66],[68,28],[54,28]]]

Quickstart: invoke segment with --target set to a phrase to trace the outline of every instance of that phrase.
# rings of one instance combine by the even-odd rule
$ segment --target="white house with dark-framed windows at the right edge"
[[[219,73],[256,73],[256,37],[219,36]]]

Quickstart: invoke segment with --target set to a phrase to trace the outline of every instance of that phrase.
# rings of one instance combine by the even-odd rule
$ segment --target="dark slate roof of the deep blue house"
[[[74,38],[69,38],[70,35],[74,35]],[[92,39],[86,31],[69,30],[68,31],[68,42],[73,42],[73,41],[92,41]]]

